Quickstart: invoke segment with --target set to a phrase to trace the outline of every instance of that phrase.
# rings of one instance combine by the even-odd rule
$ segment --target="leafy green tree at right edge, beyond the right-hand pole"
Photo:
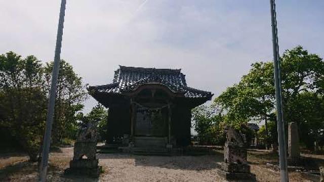
[[[285,119],[298,123],[301,142],[313,149],[324,129],[324,62],[301,46],[286,51],[281,59]]]

